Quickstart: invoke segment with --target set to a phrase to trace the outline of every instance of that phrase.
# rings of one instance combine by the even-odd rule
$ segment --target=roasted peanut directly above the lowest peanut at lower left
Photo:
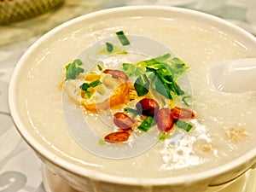
[[[113,114],[113,123],[114,125],[117,125],[121,130],[127,131],[132,129],[135,121],[131,119],[131,117],[129,117],[127,114],[119,112]]]

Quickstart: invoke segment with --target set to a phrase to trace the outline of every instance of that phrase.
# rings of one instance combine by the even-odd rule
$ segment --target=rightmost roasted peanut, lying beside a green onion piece
[[[172,108],[171,109],[172,118],[174,120],[178,119],[193,119],[195,118],[195,113],[189,108]]]

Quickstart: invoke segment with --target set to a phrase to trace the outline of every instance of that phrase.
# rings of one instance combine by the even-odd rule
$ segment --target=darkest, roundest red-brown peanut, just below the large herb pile
[[[154,116],[159,110],[159,104],[154,99],[144,98],[136,104],[137,112],[147,116]]]

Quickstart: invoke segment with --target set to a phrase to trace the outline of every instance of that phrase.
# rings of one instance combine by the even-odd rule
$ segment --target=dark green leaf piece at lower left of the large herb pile
[[[149,81],[145,74],[139,76],[136,79],[136,81],[134,83],[134,88],[137,91],[138,96],[144,96],[148,93]]]

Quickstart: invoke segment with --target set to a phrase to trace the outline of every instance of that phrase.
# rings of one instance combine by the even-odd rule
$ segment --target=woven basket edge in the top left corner
[[[0,0],[0,24],[8,24],[44,14],[64,0]]]

